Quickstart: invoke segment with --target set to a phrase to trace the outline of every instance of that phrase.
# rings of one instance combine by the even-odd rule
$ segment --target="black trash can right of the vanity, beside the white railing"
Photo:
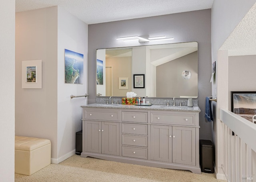
[[[202,172],[214,173],[214,146],[210,140],[199,140],[200,167]]]

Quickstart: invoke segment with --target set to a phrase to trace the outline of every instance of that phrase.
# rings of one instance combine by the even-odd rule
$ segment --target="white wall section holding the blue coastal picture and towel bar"
[[[84,55],[83,84],[65,84],[64,49]],[[58,7],[58,149],[57,162],[75,153],[76,132],[82,130],[82,108],[87,98],[70,98],[70,95],[87,94],[88,25]]]

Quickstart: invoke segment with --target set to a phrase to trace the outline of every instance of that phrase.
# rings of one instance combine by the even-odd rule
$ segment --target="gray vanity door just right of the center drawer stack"
[[[172,162],[172,127],[151,125],[151,160]]]

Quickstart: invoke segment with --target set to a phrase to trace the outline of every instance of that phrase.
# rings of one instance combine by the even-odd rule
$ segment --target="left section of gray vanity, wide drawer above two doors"
[[[118,112],[87,110],[85,112],[90,120],[84,120],[84,151],[92,153],[102,153],[110,155],[119,155],[120,151],[120,135],[119,123],[110,121],[93,121],[92,119],[109,118],[115,120],[119,118]]]

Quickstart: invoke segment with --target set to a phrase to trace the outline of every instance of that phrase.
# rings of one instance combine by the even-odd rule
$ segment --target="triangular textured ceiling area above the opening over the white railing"
[[[256,55],[256,3],[229,35],[220,50],[229,56]]]

